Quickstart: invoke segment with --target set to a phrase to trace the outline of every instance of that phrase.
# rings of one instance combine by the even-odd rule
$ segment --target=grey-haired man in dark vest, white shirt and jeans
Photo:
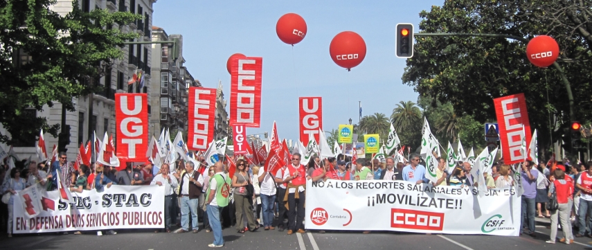
[[[194,170],[193,162],[185,163],[185,172],[181,176],[181,230],[177,233],[189,231],[189,215],[191,214],[191,223],[193,233],[197,233],[197,204],[199,203],[199,194],[201,187],[204,186],[204,177]]]

